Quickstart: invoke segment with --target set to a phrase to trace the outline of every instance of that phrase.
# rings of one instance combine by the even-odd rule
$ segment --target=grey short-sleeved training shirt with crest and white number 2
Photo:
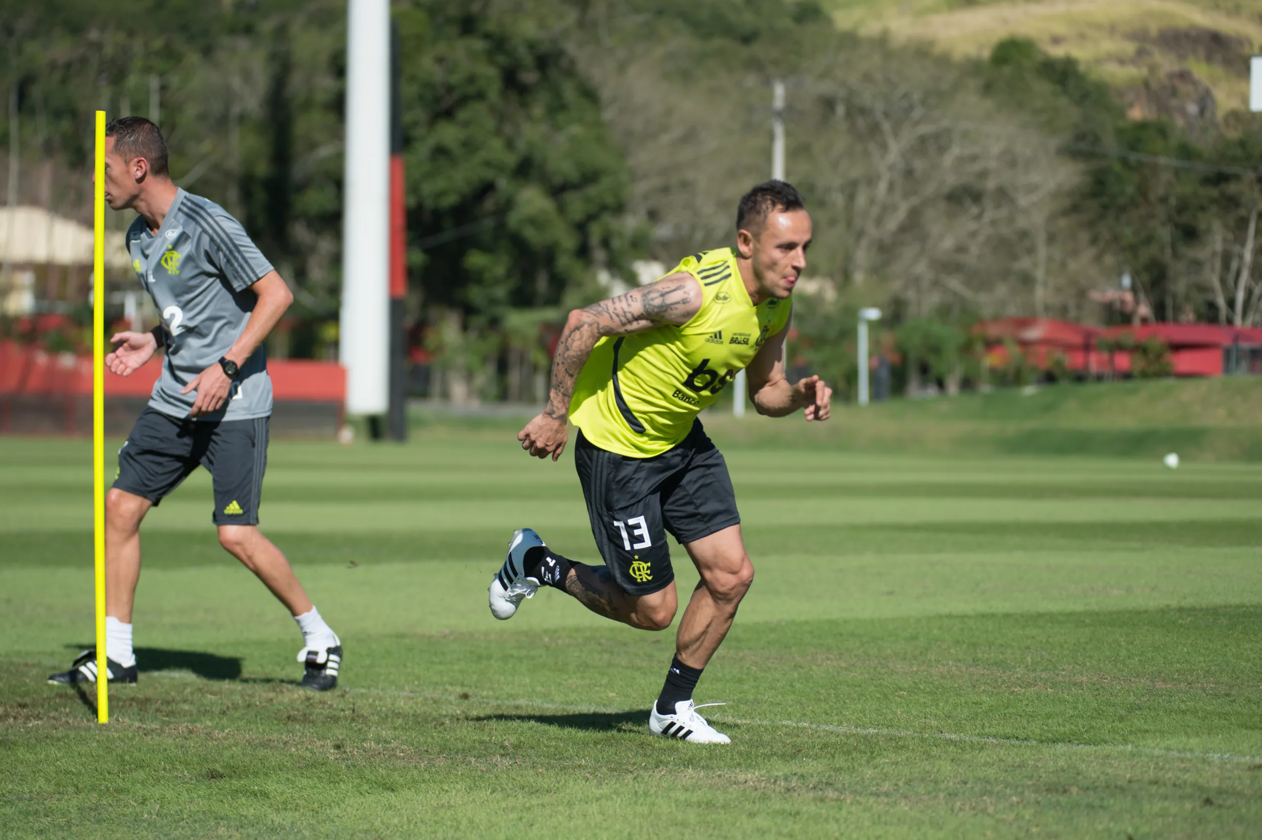
[[[180,189],[158,233],[144,217],[127,228],[131,267],[162,313],[167,358],[149,405],[187,417],[196,391],[180,394],[241,335],[257,295],[250,289],[271,271],[241,223],[227,211]],[[199,420],[249,420],[271,414],[268,353],[260,344],[245,365],[225,407]]]

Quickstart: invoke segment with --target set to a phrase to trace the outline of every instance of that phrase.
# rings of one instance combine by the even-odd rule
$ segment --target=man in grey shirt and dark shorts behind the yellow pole
[[[271,380],[264,339],[293,294],[241,223],[222,207],[175,187],[167,144],[149,120],[106,126],[105,199],[134,209],[127,250],[162,323],[117,333],[106,366],[129,376],[165,348],[148,407],[119,450],[119,475],[105,498],[106,660],[111,682],[135,682],[131,607],[140,579],[140,521],[198,464],[212,474],[220,544],[280,599],[303,632],[302,685],[337,685],[342,643],[312,605],[285,555],[259,531],[268,464]],[[49,682],[97,679],[85,651]]]

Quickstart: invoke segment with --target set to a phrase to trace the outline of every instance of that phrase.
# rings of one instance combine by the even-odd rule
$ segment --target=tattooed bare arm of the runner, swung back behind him
[[[560,458],[565,449],[569,400],[596,342],[606,335],[627,335],[659,324],[687,324],[702,308],[702,286],[681,271],[625,295],[569,313],[553,357],[551,391],[543,414],[517,434],[521,448],[536,458]]]

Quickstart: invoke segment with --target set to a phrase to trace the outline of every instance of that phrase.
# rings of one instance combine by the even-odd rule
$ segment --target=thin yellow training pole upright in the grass
[[[105,651],[105,111],[96,112],[92,190],[92,513],[96,542],[96,720],[110,723]]]

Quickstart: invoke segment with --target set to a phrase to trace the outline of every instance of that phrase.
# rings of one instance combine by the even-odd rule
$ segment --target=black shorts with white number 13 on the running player
[[[596,546],[628,594],[647,595],[675,579],[668,531],[692,542],[741,522],[727,462],[700,420],[674,449],[652,458],[607,452],[579,431],[574,467]]]

